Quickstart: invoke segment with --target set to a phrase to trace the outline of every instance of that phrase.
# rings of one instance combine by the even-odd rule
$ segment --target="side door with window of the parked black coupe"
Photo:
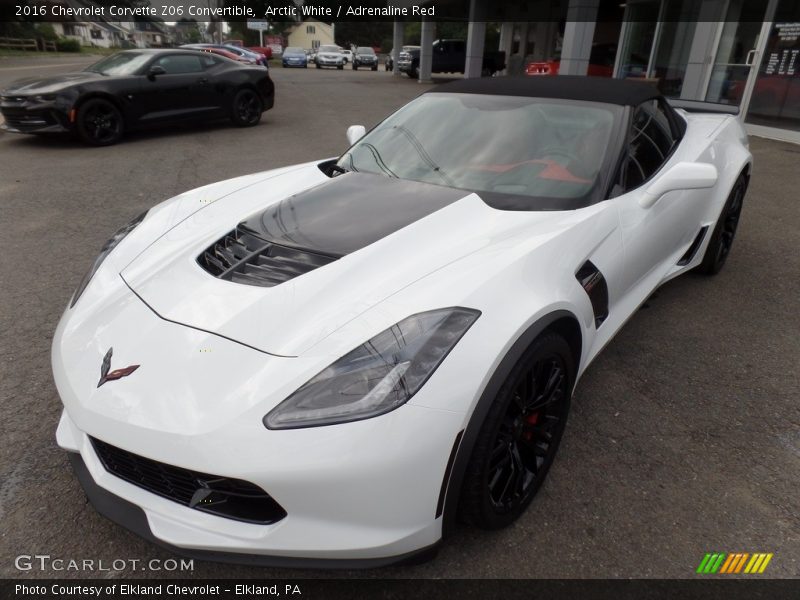
[[[213,104],[203,58],[199,52],[167,54],[149,65],[148,71],[159,67],[164,72],[145,76],[140,94],[142,123],[195,117]]]

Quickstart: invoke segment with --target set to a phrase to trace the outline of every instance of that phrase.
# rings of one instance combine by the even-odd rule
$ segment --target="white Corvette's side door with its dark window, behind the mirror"
[[[633,109],[616,193],[625,252],[625,293],[649,295],[697,235],[708,190],[676,190],[648,205],[644,192],[679,162],[680,133],[658,100]],[[648,282],[653,283],[649,285]],[[649,289],[648,289],[649,287]]]

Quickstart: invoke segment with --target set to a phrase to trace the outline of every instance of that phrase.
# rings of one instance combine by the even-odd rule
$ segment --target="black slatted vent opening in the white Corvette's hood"
[[[272,287],[336,260],[333,256],[268,242],[241,225],[197,257],[214,277]]]

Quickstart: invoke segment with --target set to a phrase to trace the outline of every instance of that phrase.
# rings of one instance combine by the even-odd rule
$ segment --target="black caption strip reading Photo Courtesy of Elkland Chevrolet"
[[[444,580],[444,579],[263,579],[263,580],[3,580],[6,599],[123,598],[220,600],[297,598],[419,600],[783,600],[797,598],[800,580]]]

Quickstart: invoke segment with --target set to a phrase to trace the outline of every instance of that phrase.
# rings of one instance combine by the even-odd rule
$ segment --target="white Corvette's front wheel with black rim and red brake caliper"
[[[482,529],[516,521],[544,482],[569,414],[575,363],[545,332],[511,369],[481,426],[459,498],[459,517]]]

